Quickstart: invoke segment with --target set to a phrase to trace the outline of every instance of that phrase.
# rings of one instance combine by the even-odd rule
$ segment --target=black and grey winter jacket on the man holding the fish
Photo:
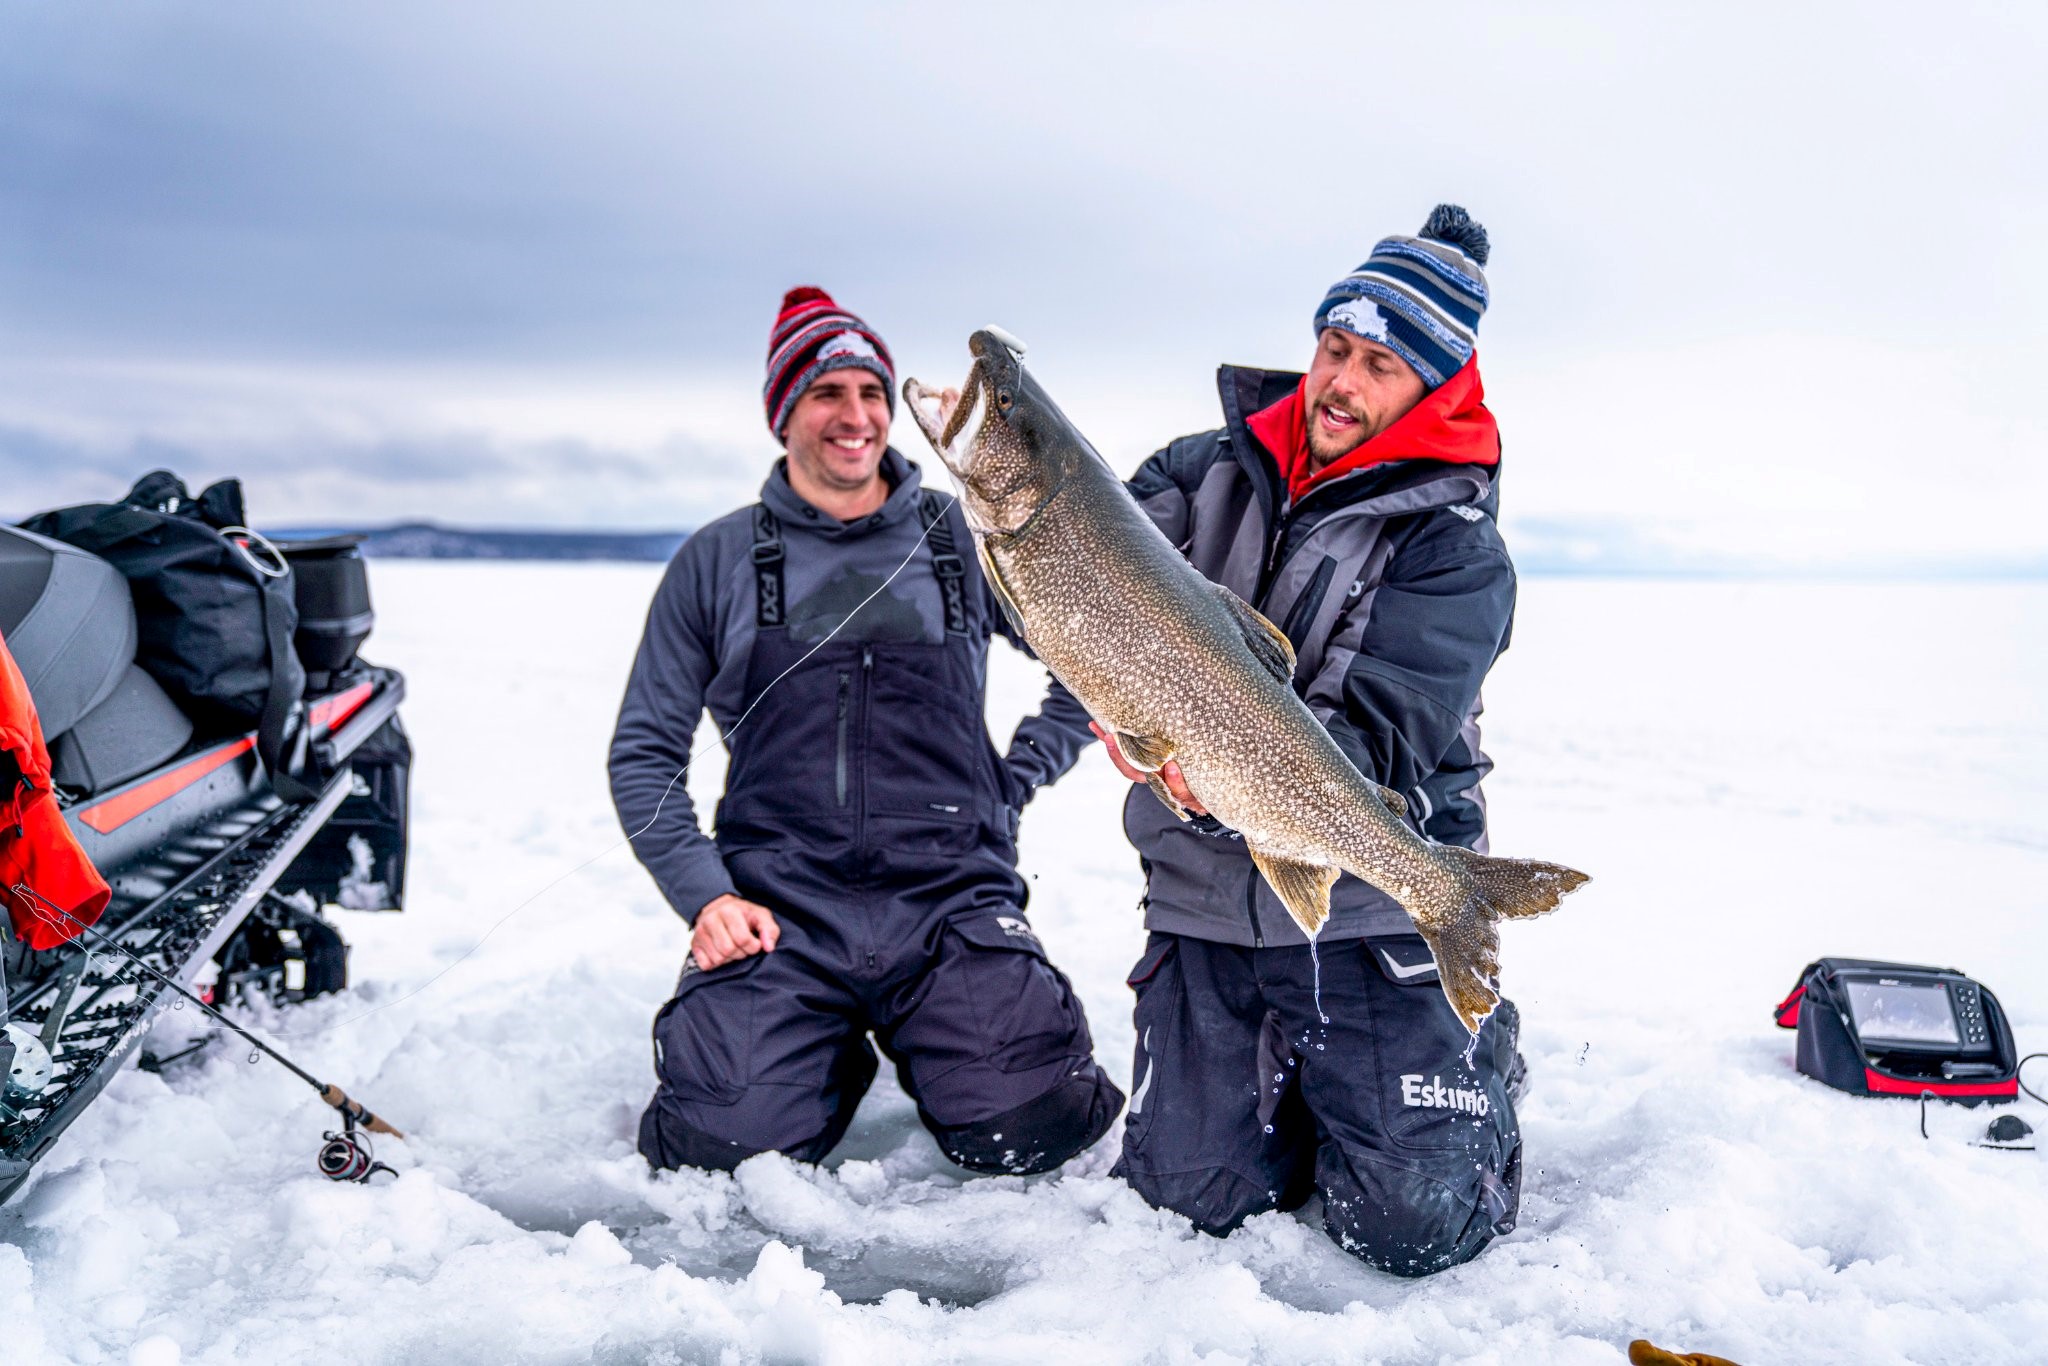
[[[1442,844],[1485,850],[1479,686],[1507,647],[1516,571],[1495,528],[1499,467],[1393,461],[1288,506],[1280,465],[1245,420],[1300,375],[1223,367],[1225,426],[1184,436],[1128,481],[1196,569],[1294,643],[1294,690],[1362,774],[1409,799]],[[1124,829],[1147,870],[1147,928],[1227,944],[1300,944],[1243,842],[1178,821],[1145,786]],[[1407,932],[1346,874],[1323,938]]]

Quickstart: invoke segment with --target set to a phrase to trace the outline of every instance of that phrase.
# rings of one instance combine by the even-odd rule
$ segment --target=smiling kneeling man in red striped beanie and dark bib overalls
[[[1124,1100],[1016,870],[1018,813],[1079,756],[1087,713],[1055,688],[1006,756],[989,743],[989,637],[1022,641],[954,500],[889,446],[872,328],[793,289],[762,403],[784,459],[676,553],[612,737],[618,819],[692,924],[641,1153],[819,1161],[881,1044],[946,1157],[1047,1171]],[[705,711],[731,756],[715,838],[676,780]]]

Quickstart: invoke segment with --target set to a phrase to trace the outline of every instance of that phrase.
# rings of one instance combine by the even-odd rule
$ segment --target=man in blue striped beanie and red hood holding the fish
[[[1501,442],[1475,354],[1487,233],[1440,205],[1315,311],[1309,373],[1223,367],[1225,426],[1151,457],[1130,492],[1196,569],[1294,645],[1294,688],[1421,836],[1485,850],[1479,684],[1516,573],[1493,526]],[[1145,774],[1112,760],[1124,776]],[[1178,782],[1174,766],[1161,774]],[[1186,786],[1182,805],[1200,811]],[[1321,965],[1241,840],[1137,786],[1145,868],[1130,1114],[1118,1171],[1208,1233],[1319,1194],[1339,1247],[1399,1276],[1513,1229],[1520,1016],[1470,1040],[1427,944],[1346,874]]]

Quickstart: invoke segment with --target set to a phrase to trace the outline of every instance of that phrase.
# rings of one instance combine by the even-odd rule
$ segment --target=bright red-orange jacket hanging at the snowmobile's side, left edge
[[[6,905],[14,936],[29,940],[29,948],[55,948],[80,934],[74,920],[90,926],[100,917],[111,891],[57,811],[43,723],[4,641],[0,788],[0,905]]]

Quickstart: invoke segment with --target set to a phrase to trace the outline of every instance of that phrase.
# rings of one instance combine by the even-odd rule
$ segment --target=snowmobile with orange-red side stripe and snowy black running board
[[[0,526],[0,639],[41,717],[63,823],[113,891],[96,926],[53,948],[0,915],[0,1202],[180,989],[217,1006],[336,991],[348,950],[326,909],[403,903],[406,680],[356,655],[373,614],[354,539],[281,551],[311,776],[274,782],[256,731],[195,723],[139,668],[139,592],[113,563]]]

